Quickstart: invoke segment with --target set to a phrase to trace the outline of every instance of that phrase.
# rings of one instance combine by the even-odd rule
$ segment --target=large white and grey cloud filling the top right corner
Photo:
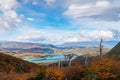
[[[86,0],[87,1],[87,0]],[[68,10],[63,13],[71,18],[91,18],[102,21],[120,20],[120,6],[108,0],[98,0],[85,4],[70,4]]]

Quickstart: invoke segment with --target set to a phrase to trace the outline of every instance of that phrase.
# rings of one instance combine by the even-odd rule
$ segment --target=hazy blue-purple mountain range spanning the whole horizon
[[[104,47],[113,47],[119,41],[104,41]],[[0,41],[0,49],[7,51],[19,52],[36,52],[36,53],[52,53],[56,49],[71,49],[71,48],[85,48],[85,47],[99,47],[98,41],[85,42],[66,42],[61,45],[41,44],[31,42],[16,42],[16,41]]]

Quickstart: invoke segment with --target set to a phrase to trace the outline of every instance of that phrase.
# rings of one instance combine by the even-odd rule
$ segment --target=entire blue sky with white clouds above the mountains
[[[120,41],[120,0],[0,0],[0,41]]]

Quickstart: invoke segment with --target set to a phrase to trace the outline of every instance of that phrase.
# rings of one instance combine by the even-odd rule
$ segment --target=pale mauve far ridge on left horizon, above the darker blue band
[[[41,44],[41,43],[31,43],[31,42],[0,41],[0,49],[3,48],[18,48],[18,49],[55,48],[55,46],[52,44]]]

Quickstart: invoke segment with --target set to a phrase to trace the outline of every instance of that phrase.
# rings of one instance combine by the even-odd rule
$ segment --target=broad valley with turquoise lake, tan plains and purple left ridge
[[[37,64],[51,64],[58,61],[64,61],[64,55],[69,54],[75,54],[77,56],[99,55],[99,47],[90,46],[93,43],[89,43],[89,47],[86,46],[86,44],[83,47],[83,43],[82,46],[79,45],[79,47],[78,44],[74,45],[74,47],[64,47],[51,44],[9,41],[0,42],[0,44],[0,52]],[[111,48],[112,47],[104,47],[103,54],[106,54]]]

